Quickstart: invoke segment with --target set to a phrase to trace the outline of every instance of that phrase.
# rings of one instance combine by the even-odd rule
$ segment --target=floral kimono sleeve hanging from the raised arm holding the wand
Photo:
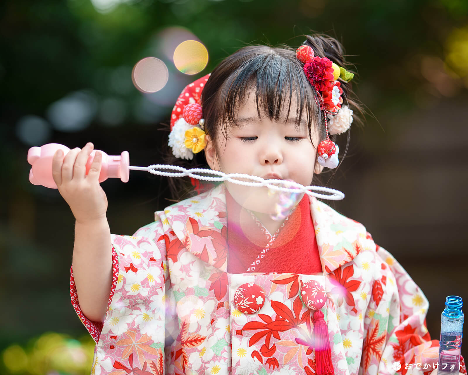
[[[111,234],[113,276],[104,322],[91,321],[82,313],[71,269],[73,308],[97,344],[95,360],[103,364],[104,373],[116,361],[126,368],[135,368],[136,363],[148,368],[163,361],[166,310],[172,310],[167,307],[172,299],[166,298],[170,284],[165,243],[158,241],[162,234],[161,221],[133,236]],[[131,342],[138,342],[140,350],[130,353]]]

